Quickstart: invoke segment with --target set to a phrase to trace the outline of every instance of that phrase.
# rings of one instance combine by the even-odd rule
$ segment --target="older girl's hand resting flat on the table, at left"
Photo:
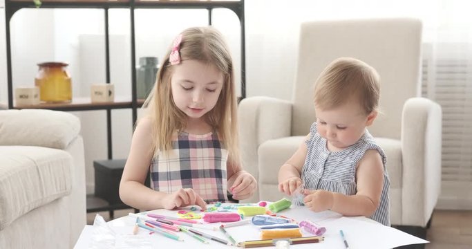
[[[168,194],[162,203],[164,203],[164,208],[167,210],[188,205],[199,205],[202,210],[207,210],[207,203],[192,189],[180,189],[172,194]]]

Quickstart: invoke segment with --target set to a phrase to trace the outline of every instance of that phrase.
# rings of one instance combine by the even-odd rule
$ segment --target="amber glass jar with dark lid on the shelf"
[[[39,63],[35,85],[39,87],[39,100],[43,102],[72,101],[72,80],[63,62]]]

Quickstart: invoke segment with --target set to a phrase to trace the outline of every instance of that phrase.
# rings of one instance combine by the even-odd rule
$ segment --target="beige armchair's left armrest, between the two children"
[[[239,103],[238,119],[244,168],[258,179],[257,149],[267,140],[290,136],[292,102],[269,97],[245,98]]]

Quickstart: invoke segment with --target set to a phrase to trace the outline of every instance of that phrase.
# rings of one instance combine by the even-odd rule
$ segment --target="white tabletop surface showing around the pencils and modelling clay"
[[[151,211],[156,214],[164,214],[169,216],[177,216],[176,210],[155,210]],[[198,213],[198,212],[196,212]],[[314,221],[319,225],[323,225],[327,231],[323,236],[325,240],[321,243],[307,243],[300,245],[292,245],[291,248],[345,248],[339,230],[342,229],[346,234],[346,240],[350,244],[350,248],[393,248],[411,243],[427,243],[410,234],[406,234],[395,228],[386,227],[375,221],[365,217],[343,217],[341,214],[335,212],[325,211],[320,213],[311,212],[305,207],[289,208],[280,212],[284,216],[296,219],[296,221],[309,220]],[[247,217],[245,219],[251,219]],[[209,244],[202,243],[189,237],[187,234],[179,233],[185,241],[174,241],[160,234],[149,234],[147,230],[140,229],[138,235],[132,235],[135,218],[131,216],[124,216],[107,224],[117,234],[117,241],[144,241],[152,245],[152,248],[158,246],[159,248],[235,248],[233,246],[225,246],[222,243],[209,240]],[[217,227],[220,223],[207,224],[209,228]],[[94,227],[86,225],[82,234],[77,241],[75,248],[89,248],[93,234]],[[303,237],[313,236],[305,230],[301,229]],[[214,236],[226,239],[223,233],[216,230],[202,230],[200,231],[212,234]],[[247,224],[237,227],[227,228],[227,232],[234,237],[237,242],[247,240],[260,239],[260,230],[256,225]],[[373,234],[372,234],[373,233]],[[133,243],[131,241],[130,243]],[[267,247],[268,248],[268,247]],[[272,247],[273,248],[273,247]]]

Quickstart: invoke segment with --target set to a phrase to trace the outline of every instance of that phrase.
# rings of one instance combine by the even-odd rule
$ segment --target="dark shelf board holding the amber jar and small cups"
[[[142,107],[144,100],[137,101],[137,107]],[[6,104],[1,107],[6,109]],[[132,108],[133,103],[130,98],[115,97],[113,102],[95,102],[92,103],[90,98],[74,98],[70,103],[41,103],[35,105],[16,105],[13,109],[50,109],[57,111],[93,111],[106,109],[126,109]]]

